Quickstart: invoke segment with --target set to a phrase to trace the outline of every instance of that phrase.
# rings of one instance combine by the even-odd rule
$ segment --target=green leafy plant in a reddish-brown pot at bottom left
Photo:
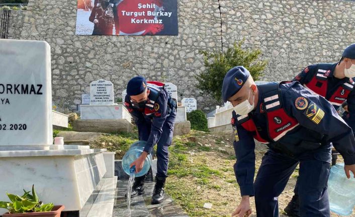
[[[6,193],[11,202],[0,201],[0,208],[9,210],[3,214],[3,217],[60,217],[64,209],[63,205],[43,204],[36,194],[34,185],[32,185],[32,194],[31,191],[25,189],[24,192],[22,196]]]

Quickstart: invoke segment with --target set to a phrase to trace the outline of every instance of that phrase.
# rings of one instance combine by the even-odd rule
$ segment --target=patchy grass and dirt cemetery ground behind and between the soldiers
[[[59,131],[54,131],[57,134]],[[104,134],[90,141],[93,149],[103,148],[116,152],[122,159],[130,144],[138,140],[138,133]],[[169,147],[169,170],[165,190],[189,216],[231,216],[240,202],[233,165],[233,135],[225,132],[202,132],[192,130],[188,135],[174,136]],[[255,175],[266,149],[255,147]],[[342,158],[338,158],[342,162]],[[298,169],[292,174],[288,185],[279,197],[280,216],[287,216],[283,209],[293,196]],[[203,208],[212,203],[211,209]],[[250,199],[251,216],[255,217],[254,198]],[[340,216],[331,213],[332,217]],[[355,217],[355,214],[350,215]]]

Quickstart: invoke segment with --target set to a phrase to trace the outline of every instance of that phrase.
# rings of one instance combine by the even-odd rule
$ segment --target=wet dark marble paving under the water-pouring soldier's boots
[[[131,198],[131,215],[127,210],[127,201],[125,197],[128,180],[118,180],[116,204],[114,206],[113,217],[132,216],[132,217],[187,217],[189,216],[179,204],[165,194],[164,201],[161,204],[151,204],[151,196],[154,189],[154,182],[146,181],[145,193],[143,195]]]

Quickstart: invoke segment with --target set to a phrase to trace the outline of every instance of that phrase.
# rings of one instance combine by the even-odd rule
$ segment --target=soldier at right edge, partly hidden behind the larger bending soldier
[[[298,81],[311,93],[327,99],[338,110],[343,102],[348,103],[348,109],[355,114],[355,44],[343,51],[337,63],[320,63],[306,67],[293,81]],[[350,112],[350,114],[351,114]],[[346,123],[355,129],[355,115],[348,115]],[[332,163],[336,162],[337,151],[332,150]],[[295,195],[285,208],[290,216],[300,216],[298,201],[298,182]]]

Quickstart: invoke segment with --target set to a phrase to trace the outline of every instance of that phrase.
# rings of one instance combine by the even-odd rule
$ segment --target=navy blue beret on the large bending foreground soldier
[[[236,94],[249,78],[250,73],[244,66],[235,66],[230,69],[223,79],[222,98],[224,102]]]

